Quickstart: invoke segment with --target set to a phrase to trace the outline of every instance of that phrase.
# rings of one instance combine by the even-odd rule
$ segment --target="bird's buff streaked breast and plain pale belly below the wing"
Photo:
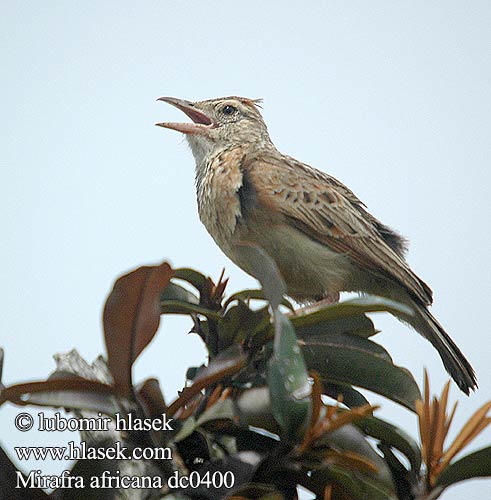
[[[256,205],[255,185],[248,186],[251,172],[242,170],[244,157],[240,148],[225,150],[198,168],[199,216],[218,246],[251,275],[254,263],[241,245],[263,248],[275,259],[289,294],[299,300],[345,289],[352,273],[349,259],[289,225],[278,211]]]

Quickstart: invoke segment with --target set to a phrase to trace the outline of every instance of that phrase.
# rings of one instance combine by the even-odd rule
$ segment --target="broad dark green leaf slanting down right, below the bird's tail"
[[[413,411],[414,402],[421,398],[412,375],[368,339],[327,334],[301,338],[300,345],[309,369],[325,382],[363,387]]]

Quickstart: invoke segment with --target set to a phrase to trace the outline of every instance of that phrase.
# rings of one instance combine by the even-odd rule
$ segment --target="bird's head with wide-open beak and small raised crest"
[[[186,134],[194,157],[200,163],[215,150],[235,145],[270,144],[266,124],[259,113],[258,99],[221,97],[191,102],[174,97],[160,97],[183,111],[192,122],[157,123],[159,127]]]

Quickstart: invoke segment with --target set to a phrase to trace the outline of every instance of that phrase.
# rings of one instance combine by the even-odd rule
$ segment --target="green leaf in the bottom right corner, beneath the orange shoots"
[[[448,486],[475,477],[491,477],[491,446],[475,451],[450,464],[436,481],[438,486]]]

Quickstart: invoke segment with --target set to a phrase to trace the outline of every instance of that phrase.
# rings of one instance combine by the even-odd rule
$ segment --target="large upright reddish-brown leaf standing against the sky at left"
[[[104,307],[108,367],[116,390],[132,393],[131,367],[153,339],[160,322],[160,293],[174,271],[169,264],[143,266],[119,278]]]

